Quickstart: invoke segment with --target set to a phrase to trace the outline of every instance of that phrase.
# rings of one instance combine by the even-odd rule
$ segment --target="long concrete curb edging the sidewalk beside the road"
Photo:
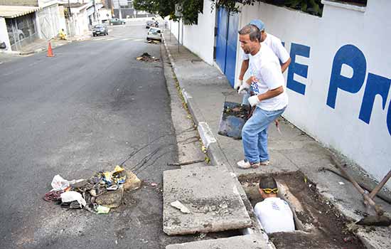
[[[168,60],[170,60],[171,68],[173,68],[173,73],[177,75],[178,69],[176,68],[176,63],[173,60],[173,57],[168,49],[166,38],[164,38],[164,36],[163,41],[164,48],[166,48],[166,53],[168,55]],[[186,102],[186,105],[188,106],[188,110],[193,117],[194,123],[197,125],[198,133],[200,134],[202,142],[207,149],[207,154],[211,164],[216,166],[225,166],[228,170],[230,170],[230,164],[228,163],[227,159],[223,154],[223,149],[220,148],[220,145],[218,144],[215,135],[213,134],[203,115],[200,115],[200,113],[202,113],[200,112],[200,108],[198,107],[193,97],[188,92],[186,92],[186,89],[184,88],[183,83],[181,83],[181,80],[178,80],[178,83],[179,87],[181,88],[181,93]]]

